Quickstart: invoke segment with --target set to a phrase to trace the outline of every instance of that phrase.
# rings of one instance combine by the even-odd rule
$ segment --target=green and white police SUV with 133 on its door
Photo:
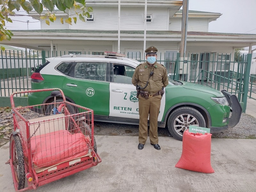
[[[139,124],[138,99],[132,75],[140,62],[114,54],[47,58],[47,62],[32,74],[31,88],[62,89],[66,100],[93,109],[95,121]],[[57,102],[61,99],[58,97]],[[51,92],[28,95],[28,105],[53,101]],[[40,111],[49,113],[52,107],[48,105]],[[172,136],[182,140],[189,125],[221,132],[234,127],[241,113],[242,108],[235,95],[169,78],[161,100],[158,127],[167,125]]]

